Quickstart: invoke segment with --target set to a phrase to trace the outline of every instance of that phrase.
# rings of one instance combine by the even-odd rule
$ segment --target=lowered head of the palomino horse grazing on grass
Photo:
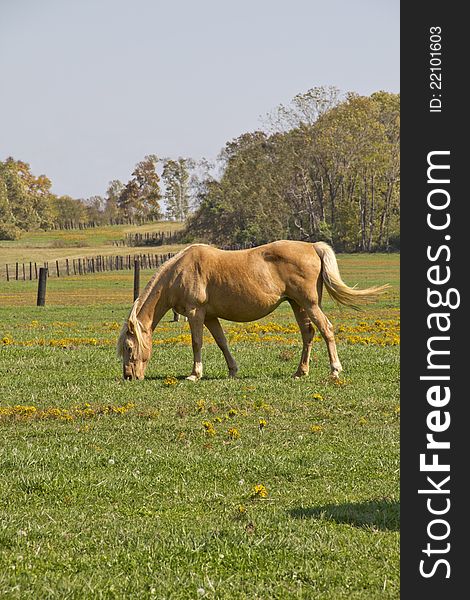
[[[122,358],[124,379],[143,379],[152,354],[152,331],[147,331],[137,318],[137,301],[121,329],[117,353]]]

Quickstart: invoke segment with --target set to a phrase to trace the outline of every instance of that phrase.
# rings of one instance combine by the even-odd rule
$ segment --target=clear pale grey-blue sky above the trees
[[[399,0],[0,0],[0,160],[104,196],[309,88],[398,93],[399,35]]]

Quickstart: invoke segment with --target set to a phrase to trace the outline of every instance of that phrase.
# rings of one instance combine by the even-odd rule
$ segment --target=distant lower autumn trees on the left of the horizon
[[[28,163],[9,157],[0,161],[0,239],[16,239],[24,231],[90,224],[145,223],[163,218],[184,221],[191,209],[197,167],[191,159],[160,160],[148,155],[137,163],[127,183],[115,179],[104,197],[76,199],[53,194],[46,175],[35,176]]]

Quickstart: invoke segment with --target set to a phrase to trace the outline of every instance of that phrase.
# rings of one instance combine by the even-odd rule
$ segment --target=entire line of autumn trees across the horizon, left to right
[[[0,162],[0,239],[67,223],[185,221],[184,241],[221,246],[324,240],[343,251],[399,248],[400,97],[298,94],[259,131],[227,142],[217,162],[137,163],[104,197],[51,193],[27,163]],[[163,206],[165,208],[163,208]]]

